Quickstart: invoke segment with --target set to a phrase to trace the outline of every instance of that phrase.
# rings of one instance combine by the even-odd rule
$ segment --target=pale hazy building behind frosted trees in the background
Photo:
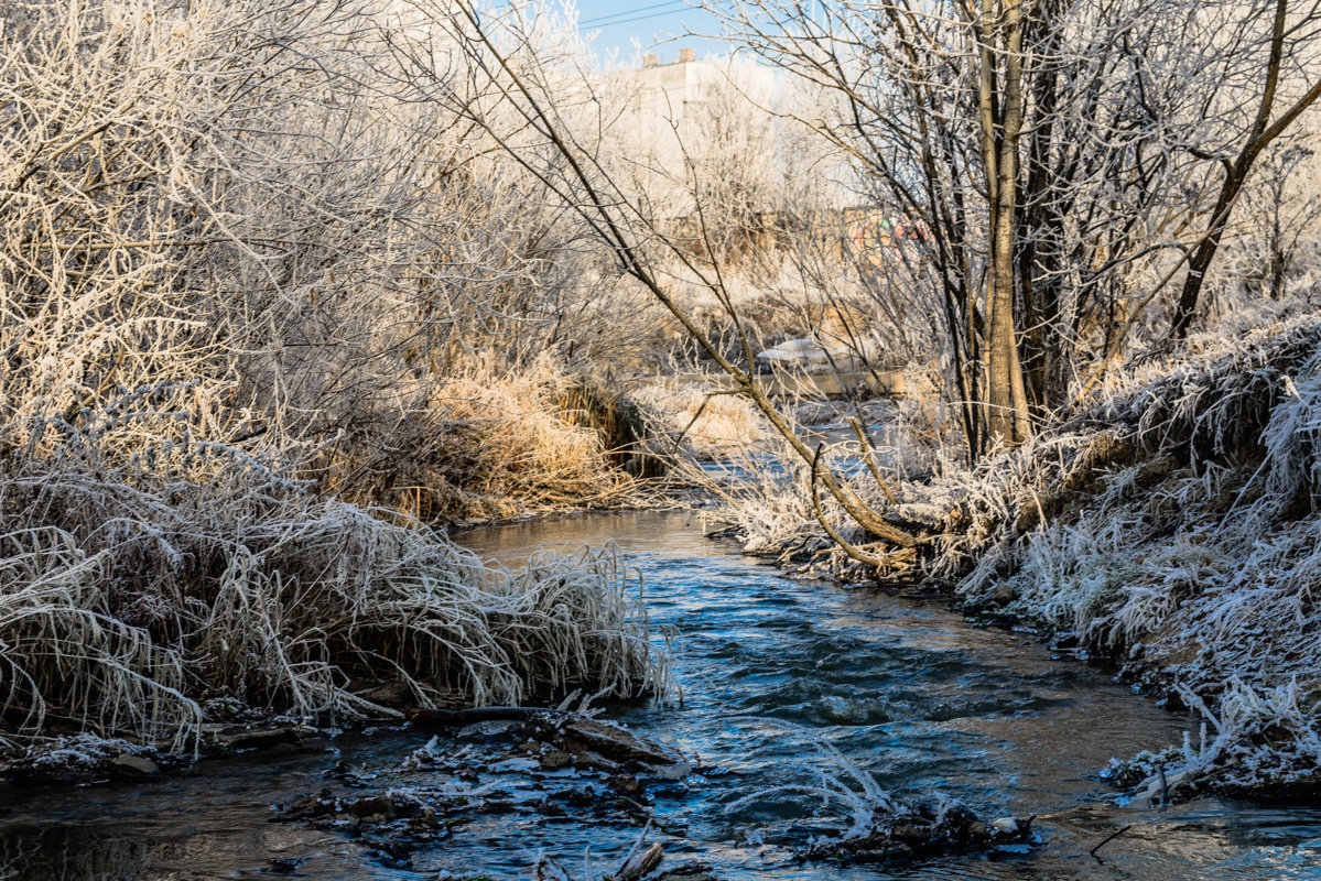
[[[680,49],[671,62],[647,54],[641,67],[612,77],[629,95],[617,132],[631,159],[631,182],[664,218],[667,235],[695,256],[705,256],[708,242],[690,195],[695,178],[715,189],[724,209],[704,226],[723,234],[725,256],[794,247],[804,222],[840,258],[845,248],[880,255],[927,240],[926,227],[861,197],[848,185],[845,162],[781,118],[810,118],[823,107],[774,67],[729,57],[699,61],[694,49]]]

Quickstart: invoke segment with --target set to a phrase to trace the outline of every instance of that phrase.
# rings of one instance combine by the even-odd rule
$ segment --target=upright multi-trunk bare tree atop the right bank
[[[933,231],[976,453],[1073,400],[1078,357],[1114,358],[1168,284],[1160,275],[1186,260],[1190,289],[1205,273],[1234,197],[1207,205],[1201,169],[1255,124],[1244,99],[1273,100],[1279,81],[1255,71],[1284,59],[1297,92],[1317,50],[1314,5],[1269,4],[1289,22],[1271,32],[1259,5],[715,8],[749,50],[843,98],[844,114],[802,122],[855,157],[877,205]],[[1184,258],[1170,267],[1172,255]]]

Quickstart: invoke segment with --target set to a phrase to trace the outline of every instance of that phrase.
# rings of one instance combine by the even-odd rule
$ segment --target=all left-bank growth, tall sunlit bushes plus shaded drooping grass
[[[5,746],[658,684],[613,559],[421,522],[621,481],[539,358],[576,232],[419,100],[413,12],[0,7]]]

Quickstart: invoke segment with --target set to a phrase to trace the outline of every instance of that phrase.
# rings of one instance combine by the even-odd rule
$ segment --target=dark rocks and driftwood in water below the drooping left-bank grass
[[[696,769],[676,750],[587,712],[412,712],[413,724],[446,730],[392,767],[367,771],[336,762],[325,771],[330,785],[276,806],[275,819],[347,835],[395,868],[482,816],[580,815],[650,828],[654,794],[683,786]],[[642,878],[653,868],[617,877]]]

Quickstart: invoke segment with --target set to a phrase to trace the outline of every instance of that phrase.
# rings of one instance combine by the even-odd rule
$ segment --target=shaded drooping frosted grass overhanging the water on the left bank
[[[610,555],[489,568],[443,535],[223,466],[29,460],[0,472],[7,745],[83,729],[194,749],[202,703],[305,721],[392,703],[658,687],[641,593]],[[194,469],[192,473],[184,469]],[[214,716],[214,712],[211,713]]]

